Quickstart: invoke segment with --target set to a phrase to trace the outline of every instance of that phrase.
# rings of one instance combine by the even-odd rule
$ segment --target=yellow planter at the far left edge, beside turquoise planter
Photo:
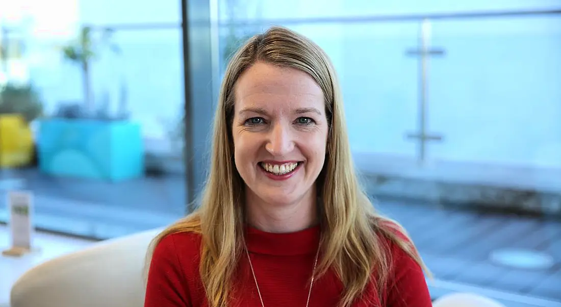
[[[33,146],[33,133],[22,116],[0,115],[0,167],[20,167],[31,163]]]

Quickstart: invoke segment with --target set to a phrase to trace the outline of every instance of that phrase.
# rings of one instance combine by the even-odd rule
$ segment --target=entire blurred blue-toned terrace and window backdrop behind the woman
[[[33,193],[40,230],[96,240],[185,216],[228,57],[284,25],[332,59],[358,171],[431,291],[561,304],[559,0],[0,8],[1,223],[10,190]]]

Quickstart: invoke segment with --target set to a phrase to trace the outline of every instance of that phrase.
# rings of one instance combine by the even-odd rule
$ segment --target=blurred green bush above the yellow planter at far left
[[[27,122],[43,114],[43,103],[32,85],[6,84],[0,88],[0,114],[21,114]]]

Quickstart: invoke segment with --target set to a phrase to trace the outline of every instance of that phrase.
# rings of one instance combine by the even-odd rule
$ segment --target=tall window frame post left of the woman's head
[[[185,83],[186,213],[196,207],[209,169],[213,108],[211,0],[181,0]]]

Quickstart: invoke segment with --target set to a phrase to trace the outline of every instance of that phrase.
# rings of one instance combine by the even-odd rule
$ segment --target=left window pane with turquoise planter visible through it
[[[2,135],[25,144],[15,149],[23,159],[0,153],[1,190],[31,191],[36,226],[73,235],[176,221],[186,210],[180,2],[58,2],[56,17],[29,2],[1,24],[3,79],[43,111]]]

